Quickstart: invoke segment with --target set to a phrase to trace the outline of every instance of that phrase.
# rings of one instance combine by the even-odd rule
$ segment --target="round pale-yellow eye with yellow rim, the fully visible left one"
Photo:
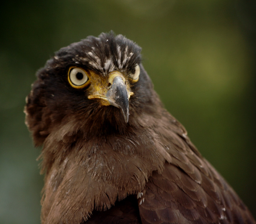
[[[81,68],[70,67],[68,71],[69,84],[74,88],[83,88],[87,86],[88,76]]]

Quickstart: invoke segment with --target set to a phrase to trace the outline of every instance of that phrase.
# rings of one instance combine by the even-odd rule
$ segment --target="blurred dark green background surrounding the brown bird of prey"
[[[163,103],[256,217],[255,4],[2,1],[0,223],[40,222],[40,149],[23,114],[35,72],[61,47],[110,30],[142,46]]]

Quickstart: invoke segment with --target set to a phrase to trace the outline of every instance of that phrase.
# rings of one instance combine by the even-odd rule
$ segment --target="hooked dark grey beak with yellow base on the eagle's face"
[[[125,79],[120,72],[114,71],[109,75],[108,83],[110,87],[102,87],[93,95],[89,95],[88,99],[100,99],[104,106],[112,105],[121,109],[124,120],[127,123],[129,118],[129,98],[133,92],[125,84]],[[127,89],[128,88],[128,89]]]

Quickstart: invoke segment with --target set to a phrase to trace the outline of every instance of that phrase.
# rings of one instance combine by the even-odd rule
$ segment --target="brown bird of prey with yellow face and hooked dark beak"
[[[140,52],[102,33],[37,72],[25,113],[42,145],[42,223],[256,224],[163,107]]]

